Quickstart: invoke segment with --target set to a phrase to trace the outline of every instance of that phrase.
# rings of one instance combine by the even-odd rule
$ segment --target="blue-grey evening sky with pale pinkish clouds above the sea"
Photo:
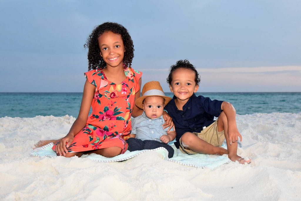
[[[301,1],[0,1],[0,92],[82,92],[83,47],[104,22],[129,30],[142,85],[188,59],[198,92],[300,92]]]

